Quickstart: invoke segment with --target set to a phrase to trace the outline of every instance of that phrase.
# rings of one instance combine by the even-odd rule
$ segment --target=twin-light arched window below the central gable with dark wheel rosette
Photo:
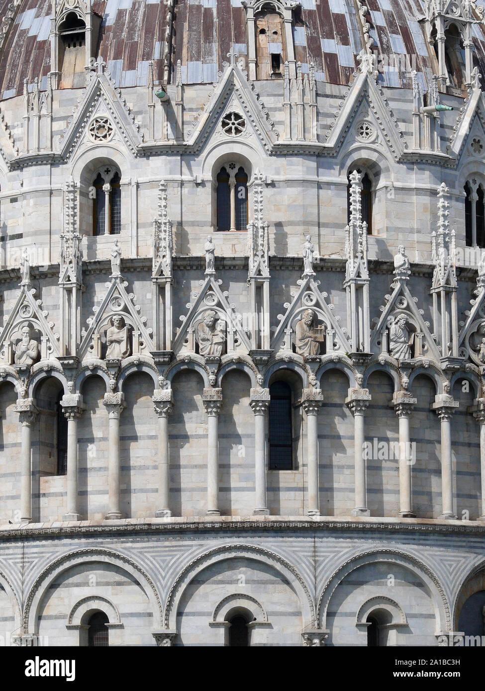
[[[217,230],[246,230],[248,226],[248,174],[231,162],[217,174]]]

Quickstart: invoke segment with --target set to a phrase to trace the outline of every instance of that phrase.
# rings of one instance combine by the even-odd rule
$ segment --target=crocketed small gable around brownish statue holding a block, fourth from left
[[[350,352],[351,346],[347,338],[347,330],[340,326],[340,317],[333,314],[333,305],[327,303],[327,294],[320,292],[320,281],[313,276],[303,276],[298,281],[298,290],[291,294],[291,303],[285,303],[286,312],[278,314],[280,325],[271,341],[271,349],[275,352],[296,351],[296,325],[302,319],[304,312],[311,310],[314,314],[312,328],[315,333],[321,332],[325,354],[329,352]],[[322,352],[320,351],[320,354]]]

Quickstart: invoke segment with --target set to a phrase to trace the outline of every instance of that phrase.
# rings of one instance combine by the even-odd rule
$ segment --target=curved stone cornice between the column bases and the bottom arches
[[[46,539],[46,538],[89,538],[131,535],[156,535],[157,533],[221,533],[271,532],[278,533],[384,533],[389,536],[407,535],[461,535],[485,538],[485,522],[439,520],[423,518],[313,518],[286,516],[217,516],[214,518],[149,518],[121,520],[88,520],[71,522],[29,523],[0,526],[0,541]]]

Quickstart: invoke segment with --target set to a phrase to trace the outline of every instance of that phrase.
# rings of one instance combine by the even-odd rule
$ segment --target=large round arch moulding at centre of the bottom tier
[[[241,545],[241,543],[236,543],[230,545],[220,545],[219,547],[214,547],[214,549],[205,551],[187,564],[184,569],[182,569],[179,576],[176,577],[167,597],[167,605],[165,605],[165,614],[163,619],[165,628],[176,630],[176,614],[179,607],[179,602],[183,596],[185,588],[190,584],[197,574],[215,562],[241,557],[259,560],[266,565],[277,569],[277,571],[280,571],[282,575],[285,576],[286,580],[288,580],[289,585],[293,587],[293,590],[300,600],[305,625],[314,621],[315,609],[313,607],[313,600],[309,587],[306,585],[299,571],[293,565],[291,565],[290,562],[286,561],[286,559],[273,551],[263,549],[257,545]]]

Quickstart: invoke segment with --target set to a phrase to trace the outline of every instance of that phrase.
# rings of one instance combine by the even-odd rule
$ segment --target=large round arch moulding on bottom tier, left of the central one
[[[127,571],[127,573],[136,580],[136,583],[138,583],[143,591],[145,591],[147,598],[149,598],[149,602],[152,605],[154,623],[161,621],[163,615],[161,598],[154,581],[146,571],[122,553],[102,547],[87,547],[86,549],[79,549],[63,554],[51,562],[51,564],[42,571],[42,574],[38,576],[26,598],[24,609],[24,630],[26,632],[37,633],[39,607],[42,603],[44,594],[46,594],[46,591],[48,591],[48,588],[55,578],[60,576],[64,571],[71,569],[71,567],[79,564],[86,565],[88,562],[105,562]]]

